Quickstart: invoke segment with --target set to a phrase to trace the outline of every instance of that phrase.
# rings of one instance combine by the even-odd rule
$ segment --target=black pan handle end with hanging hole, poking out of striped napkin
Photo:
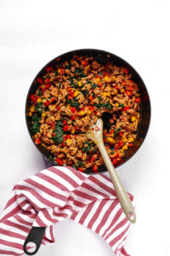
[[[34,255],[37,253],[37,251],[39,250],[39,247],[41,246],[41,243],[42,243],[42,237],[43,237],[43,234],[45,232],[46,228],[42,228],[42,227],[32,227],[31,228],[31,231],[30,233],[28,234],[28,236],[26,237],[26,241],[24,243],[24,252],[27,254],[27,255]],[[35,251],[34,252],[28,252],[26,250],[26,246],[29,242],[33,242],[36,244],[36,248],[35,248]]]

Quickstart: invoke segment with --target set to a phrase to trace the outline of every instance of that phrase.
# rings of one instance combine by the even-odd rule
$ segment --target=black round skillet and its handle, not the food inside
[[[114,64],[116,64],[116,66],[125,67],[129,71],[129,73],[132,73],[132,80],[139,86],[139,94],[140,94],[141,102],[140,102],[140,121],[139,121],[139,128],[137,131],[137,137],[133,142],[133,147],[128,148],[126,151],[126,154],[122,157],[122,160],[118,161],[115,165],[115,167],[121,166],[123,163],[127,162],[127,160],[129,160],[138,151],[138,149],[144,142],[144,138],[146,137],[146,134],[147,134],[149,126],[150,126],[150,113],[151,113],[150,96],[148,94],[148,90],[146,89],[144,81],[139,76],[139,73],[137,73],[137,71],[129,63],[127,63],[127,61],[124,61],[119,56],[111,54],[110,52],[107,52],[104,50],[100,50],[100,49],[72,50],[63,55],[59,55],[58,57],[54,58],[54,60],[52,60],[52,61],[49,61],[48,64],[46,64],[44,67],[42,67],[42,70],[39,73],[37,73],[37,76],[33,80],[30,90],[28,91],[28,94],[26,97],[26,125],[27,125],[28,131],[30,133],[31,139],[32,139],[33,133],[31,131],[31,117],[29,117],[28,113],[29,113],[29,109],[31,107],[30,96],[31,96],[31,94],[35,93],[35,91],[37,90],[37,87],[39,86],[39,84],[37,84],[35,82],[36,82],[37,78],[43,76],[43,74],[45,73],[46,67],[54,66],[56,64],[62,63],[63,61],[66,61],[66,60],[71,60],[73,55],[86,55],[88,57],[93,56],[94,59],[96,59],[103,65],[105,65],[109,61],[109,62],[113,62]],[[56,61],[57,61],[57,63],[56,63]],[[107,120],[108,120],[108,118],[104,117],[104,119],[103,119],[104,126],[107,124]],[[33,139],[32,139],[32,142],[34,143]],[[48,166],[57,166],[57,163],[54,162],[54,160],[51,160],[49,158],[49,152],[47,149],[43,148],[41,145],[35,144],[35,146],[42,154],[46,163],[48,163]],[[101,172],[106,172],[105,166],[99,167],[99,173],[101,173]],[[93,172],[92,169],[88,169],[88,171],[86,173],[95,175],[95,173]],[[24,244],[24,251],[26,254],[33,255],[33,254],[37,253],[37,251],[41,245],[42,236],[43,236],[44,232],[45,232],[45,228],[43,228],[43,227],[42,228],[33,227],[31,229],[31,232],[27,236],[25,244]],[[36,250],[34,252],[28,252],[26,250],[26,245],[29,241],[33,241],[36,244]]]

